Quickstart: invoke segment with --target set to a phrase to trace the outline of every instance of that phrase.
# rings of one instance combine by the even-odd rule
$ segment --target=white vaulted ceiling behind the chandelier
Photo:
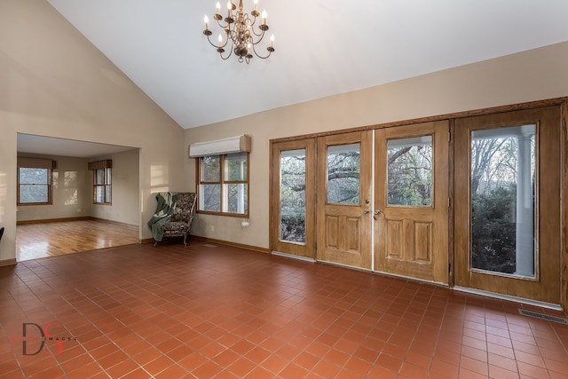
[[[565,0],[259,0],[247,65],[202,33],[217,0],[47,1],[185,129],[568,41]]]

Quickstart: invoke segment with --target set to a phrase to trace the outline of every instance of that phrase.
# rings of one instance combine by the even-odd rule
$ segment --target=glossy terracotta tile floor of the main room
[[[568,326],[522,306],[243,249],[130,245],[0,267],[0,376],[568,377]]]

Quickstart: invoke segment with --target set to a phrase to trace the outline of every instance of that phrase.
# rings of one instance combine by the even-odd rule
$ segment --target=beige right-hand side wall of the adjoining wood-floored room
[[[90,201],[89,216],[130,225],[139,225],[138,149],[120,154],[99,156],[96,159],[91,159],[90,162],[104,159],[113,160],[113,203],[112,205],[104,205],[93,204],[92,201]],[[92,174],[89,183],[90,186],[92,186]],[[89,188],[89,191],[91,193],[90,200],[92,200],[92,187]]]

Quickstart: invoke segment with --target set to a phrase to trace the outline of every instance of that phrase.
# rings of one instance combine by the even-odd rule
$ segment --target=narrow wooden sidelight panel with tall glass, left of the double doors
[[[272,144],[271,247],[315,258],[315,141]]]

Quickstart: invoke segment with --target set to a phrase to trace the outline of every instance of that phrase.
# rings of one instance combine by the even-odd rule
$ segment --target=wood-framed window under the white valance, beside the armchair
[[[202,156],[198,211],[248,217],[248,153]]]

